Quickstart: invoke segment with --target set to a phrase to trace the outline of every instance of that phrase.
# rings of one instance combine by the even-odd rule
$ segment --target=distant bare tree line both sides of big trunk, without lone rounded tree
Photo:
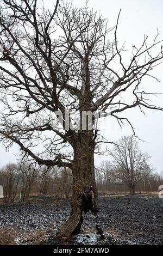
[[[99,193],[130,192],[129,186],[121,179],[114,165],[103,161],[96,168],[96,181]],[[155,192],[163,184],[162,174],[151,173],[136,185],[136,192]],[[0,185],[3,186],[4,202],[25,202],[29,196],[53,194],[59,197],[70,197],[72,194],[72,174],[68,168],[47,170],[32,166],[21,166],[9,163],[0,170]]]

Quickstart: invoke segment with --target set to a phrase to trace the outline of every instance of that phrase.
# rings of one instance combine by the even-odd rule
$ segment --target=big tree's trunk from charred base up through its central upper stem
[[[75,132],[75,136],[73,136],[73,132],[69,131],[74,151],[74,161],[72,164],[73,195],[70,217],[64,227],[61,228],[59,232],[60,237],[68,237],[73,232],[80,231],[80,226],[83,223],[83,211],[86,213],[91,210],[92,214],[96,214],[98,210],[94,164],[96,136],[93,135],[93,130],[90,129],[88,117],[83,128],[83,113],[89,111],[92,106],[88,52],[85,54],[82,62],[83,81],[81,92],[78,95],[80,126],[82,125],[82,130],[78,131],[78,133]]]

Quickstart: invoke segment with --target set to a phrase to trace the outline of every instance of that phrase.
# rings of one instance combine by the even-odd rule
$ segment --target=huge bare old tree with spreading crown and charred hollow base
[[[145,36],[140,47],[133,46],[126,64],[123,46],[117,44],[120,14],[115,28],[108,28],[108,22],[87,6],[78,9],[57,0],[52,11],[41,10],[36,0],[1,3],[1,141],[6,147],[15,142],[39,165],[72,169],[72,210],[60,232],[69,236],[80,220],[80,194],[93,194],[92,212],[97,211],[94,154],[99,154],[100,143],[109,143],[98,132],[96,118],[93,129],[89,121],[80,130],[76,123],[88,111],[99,114],[109,109],[120,124],[125,120],[130,124],[119,113],[137,106],[141,111],[162,110],[151,105],[148,92],[139,88],[142,78],[153,78],[150,71],[162,59],[158,34],[151,45]],[[120,101],[126,91],[133,97],[128,100],[124,94]],[[74,113],[68,117],[69,129],[65,106]]]

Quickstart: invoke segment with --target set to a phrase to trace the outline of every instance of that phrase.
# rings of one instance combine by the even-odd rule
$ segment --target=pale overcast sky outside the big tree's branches
[[[51,8],[55,1],[46,2],[48,8]],[[68,2],[68,1],[67,1]],[[85,1],[74,0],[74,5],[84,5]],[[156,28],[159,30],[159,39],[163,39],[163,2],[161,0],[90,0],[89,6],[100,11],[103,17],[109,19],[109,26],[115,26],[117,15],[122,9],[120,22],[117,31],[117,37],[120,44],[126,41],[127,54],[131,53],[131,45],[140,46],[143,41],[144,34],[148,34],[149,41],[154,39]],[[162,43],[163,45],[163,43]],[[131,54],[130,54],[131,55]],[[163,93],[163,64],[157,66],[153,74],[160,79],[156,82],[151,79],[143,81],[143,86],[149,88],[150,92]],[[163,106],[163,95],[155,98],[158,106]],[[138,109],[131,109],[123,114],[128,117],[136,129],[136,135],[143,141],[140,147],[143,151],[147,151],[152,156],[151,163],[157,172],[163,170],[163,112],[150,111],[147,109],[146,117],[141,114]],[[109,141],[117,141],[123,135],[131,135],[131,129],[126,124],[121,130],[116,121],[110,117],[103,123],[105,137]],[[1,143],[1,142],[0,142]],[[0,145],[0,164],[1,166],[7,162],[15,162],[14,154],[18,153],[17,145],[13,145],[9,152],[6,152],[3,145]],[[95,157],[96,165],[106,160],[108,157]]]

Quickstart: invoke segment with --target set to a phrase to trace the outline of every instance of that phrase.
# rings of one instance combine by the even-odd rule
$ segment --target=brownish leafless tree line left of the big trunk
[[[5,203],[25,202],[29,195],[55,194],[68,198],[72,188],[68,168],[37,168],[32,164],[8,163],[0,169]]]

